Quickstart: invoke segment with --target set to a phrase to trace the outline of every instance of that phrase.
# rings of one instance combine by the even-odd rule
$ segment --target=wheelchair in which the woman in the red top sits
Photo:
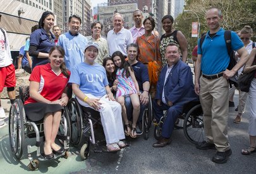
[[[20,86],[19,88],[20,98],[16,99],[11,105],[9,111],[9,144],[11,146],[11,152],[17,160],[20,160],[23,149],[25,146],[25,138],[36,138],[35,146],[31,144],[27,145],[28,160],[30,161],[28,168],[35,170],[39,167],[39,161],[46,161],[40,154],[40,146],[44,138],[44,119],[37,122],[32,122],[26,117],[23,103],[29,97],[29,86]],[[56,139],[64,146],[64,152],[62,154],[54,155],[54,159],[59,156],[68,158],[69,150],[69,128],[66,120],[67,110],[64,107],[64,112],[61,115],[61,123],[59,125],[59,131]],[[42,137],[42,139],[41,139]],[[37,151],[38,160],[32,158],[31,153]]]

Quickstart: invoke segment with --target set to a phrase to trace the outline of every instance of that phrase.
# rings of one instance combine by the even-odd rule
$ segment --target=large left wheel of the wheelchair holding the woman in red
[[[9,111],[9,144],[15,157],[20,160],[25,139],[25,110],[20,99],[16,99]]]

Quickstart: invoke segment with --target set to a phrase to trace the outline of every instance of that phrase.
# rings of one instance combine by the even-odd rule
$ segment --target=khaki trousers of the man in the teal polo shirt
[[[204,112],[206,141],[214,143],[217,151],[227,151],[228,142],[228,81],[221,77],[200,77],[200,103]]]

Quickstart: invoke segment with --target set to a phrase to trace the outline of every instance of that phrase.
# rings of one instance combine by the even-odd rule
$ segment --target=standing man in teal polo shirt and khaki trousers
[[[212,161],[226,163],[232,151],[228,141],[228,88],[227,79],[233,77],[248,59],[243,42],[235,32],[231,32],[231,48],[241,59],[230,71],[230,58],[221,28],[220,9],[210,8],[206,13],[209,27],[202,48],[198,40],[198,57],[195,63],[195,93],[200,96],[204,112],[205,141],[197,144],[198,149],[217,149]],[[202,71],[202,76],[200,72]]]

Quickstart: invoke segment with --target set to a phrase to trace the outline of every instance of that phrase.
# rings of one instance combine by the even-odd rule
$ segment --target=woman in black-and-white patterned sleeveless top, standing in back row
[[[173,28],[173,16],[166,15],[162,18],[162,28],[166,33],[164,33],[160,39],[160,53],[162,57],[162,66],[167,64],[166,57],[164,56],[166,52],[166,47],[168,44],[176,44],[180,47],[182,61],[186,62],[188,56],[188,42],[181,31],[174,30]]]

